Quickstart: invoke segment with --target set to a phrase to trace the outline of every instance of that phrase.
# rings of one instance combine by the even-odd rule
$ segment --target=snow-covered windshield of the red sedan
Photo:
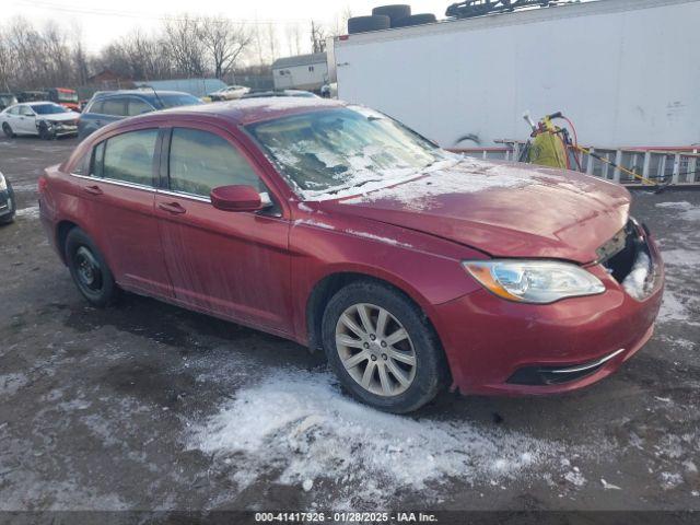
[[[397,121],[363,107],[311,112],[246,129],[305,198],[417,175],[451,158]]]

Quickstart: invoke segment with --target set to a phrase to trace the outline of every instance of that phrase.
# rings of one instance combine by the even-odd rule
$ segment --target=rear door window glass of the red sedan
[[[156,139],[158,129],[129,131],[107,139],[95,150],[94,175],[153,186],[153,153]]]

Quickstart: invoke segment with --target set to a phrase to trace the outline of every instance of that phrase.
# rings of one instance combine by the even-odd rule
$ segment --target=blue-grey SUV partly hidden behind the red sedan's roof
[[[80,115],[78,138],[82,140],[103,126],[126,117],[195,104],[202,102],[196,96],[178,91],[98,91]]]

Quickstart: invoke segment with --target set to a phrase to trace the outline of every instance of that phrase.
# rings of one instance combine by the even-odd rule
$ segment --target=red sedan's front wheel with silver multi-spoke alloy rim
[[[431,401],[444,385],[445,358],[432,327],[388,285],[345,287],[326,306],[322,328],[328,363],[362,402],[406,413]]]

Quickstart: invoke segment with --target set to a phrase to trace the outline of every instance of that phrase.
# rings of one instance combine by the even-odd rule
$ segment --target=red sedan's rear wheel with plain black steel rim
[[[104,307],[117,299],[119,289],[105,258],[79,228],[66,238],[66,261],[78,290],[91,304]]]

